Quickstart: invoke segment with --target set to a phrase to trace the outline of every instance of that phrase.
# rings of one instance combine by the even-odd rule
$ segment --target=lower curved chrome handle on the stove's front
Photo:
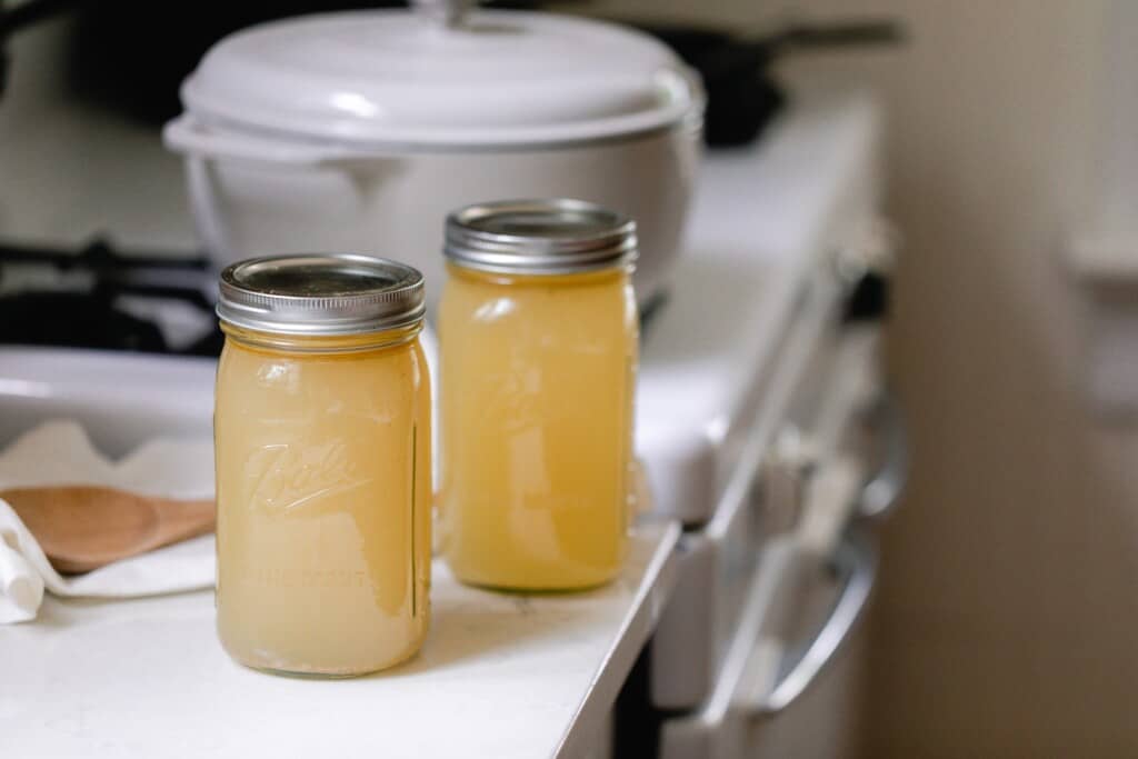
[[[774,717],[791,707],[839,657],[865,613],[877,574],[877,556],[868,539],[848,533],[831,560],[844,577],[841,594],[817,634],[801,647],[801,655],[784,654],[784,674],[753,708],[757,717]]]

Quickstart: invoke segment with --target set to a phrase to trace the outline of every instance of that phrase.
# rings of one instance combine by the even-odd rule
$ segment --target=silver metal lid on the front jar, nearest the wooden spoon
[[[387,258],[345,253],[249,258],[221,273],[223,322],[286,335],[360,335],[423,317],[423,277]]]

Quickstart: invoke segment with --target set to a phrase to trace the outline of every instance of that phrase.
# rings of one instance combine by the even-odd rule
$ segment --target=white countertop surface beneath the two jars
[[[233,663],[211,592],[49,597],[35,622],[0,627],[0,756],[579,756],[655,625],[678,535],[642,526],[620,578],[580,594],[479,591],[436,561],[421,653],[344,680]]]

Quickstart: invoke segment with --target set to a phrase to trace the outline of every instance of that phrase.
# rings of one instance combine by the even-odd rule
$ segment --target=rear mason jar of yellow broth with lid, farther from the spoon
[[[619,571],[633,488],[635,225],[577,200],[447,220],[443,550],[464,583],[576,589]]]

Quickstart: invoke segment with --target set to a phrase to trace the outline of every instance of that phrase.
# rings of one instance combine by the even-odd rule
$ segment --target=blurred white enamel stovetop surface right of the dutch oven
[[[757,147],[707,156],[687,254],[645,329],[636,439],[657,508],[711,519],[803,322],[839,308],[839,253],[876,224],[880,125],[858,97],[807,99]]]

